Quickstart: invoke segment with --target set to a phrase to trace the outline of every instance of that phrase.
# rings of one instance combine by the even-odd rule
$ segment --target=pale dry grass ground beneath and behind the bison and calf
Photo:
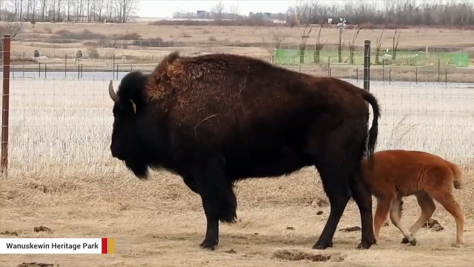
[[[403,236],[390,223],[370,250],[355,249],[360,232],[339,230],[334,248],[311,250],[330,209],[318,173],[307,168],[238,183],[239,221],[222,225],[220,245],[209,252],[198,248],[205,234],[200,198],[179,177],[155,172],[149,181],[138,181],[111,157],[107,82],[12,78],[10,171],[0,178],[0,232],[115,237],[115,255],[2,255],[0,266],[472,266],[472,85],[370,87],[382,109],[377,150],[423,150],[462,166],[466,187],[455,197],[466,214],[465,248],[453,246],[454,220],[437,204],[433,218],[445,229],[421,228],[415,247],[401,244]],[[406,198],[404,224],[411,225],[418,213],[415,197]],[[52,232],[35,232],[37,226]],[[351,201],[338,229],[352,226],[360,226],[360,217]],[[317,254],[332,257],[315,263],[321,260]]]

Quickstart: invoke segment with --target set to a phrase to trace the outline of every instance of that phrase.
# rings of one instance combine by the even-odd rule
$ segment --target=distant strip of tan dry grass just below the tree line
[[[56,33],[59,30],[70,30],[81,32],[90,30],[101,35],[127,35],[140,33],[143,38],[160,37],[164,40],[173,39],[176,41],[197,42],[206,41],[213,36],[221,41],[229,42],[262,42],[262,38],[268,38],[272,42],[275,31],[285,35],[285,42],[298,44],[303,34],[304,27],[249,27],[249,26],[153,26],[144,23],[138,24],[36,24],[33,29],[30,24],[24,24],[23,36],[36,34],[35,37],[49,37],[48,32]],[[187,33],[186,37],[182,33]],[[385,30],[381,48],[391,48],[391,38],[394,30]],[[370,39],[375,43],[375,39],[380,37],[381,30],[361,30],[359,33],[360,44],[363,40]],[[472,47],[474,35],[472,30],[454,30],[446,28],[424,28],[415,27],[404,29],[400,37],[399,48],[413,46],[451,46],[451,47]],[[346,43],[354,34],[354,30],[345,30],[343,38]],[[21,37],[18,35],[17,37]],[[312,35],[307,39],[307,44],[314,44],[317,35]],[[339,30],[336,28],[323,28],[321,39],[328,39],[328,44],[336,44],[339,38]]]

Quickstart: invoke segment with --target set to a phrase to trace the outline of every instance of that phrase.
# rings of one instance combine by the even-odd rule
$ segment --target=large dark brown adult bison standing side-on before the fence
[[[332,237],[352,196],[361,212],[359,248],[375,243],[372,198],[359,176],[377,140],[376,98],[348,82],[313,77],[239,55],[165,57],[128,73],[115,102],[111,152],[138,178],[149,167],[180,175],[202,199],[202,248],[218,244],[219,221],[236,219],[234,182],[318,169],[331,212],[313,248]],[[368,131],[372,105],[374,120]],[[368,143],[366,144],[366,139]]]

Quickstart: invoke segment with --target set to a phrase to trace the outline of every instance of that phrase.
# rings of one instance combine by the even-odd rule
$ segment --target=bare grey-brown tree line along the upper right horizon
[[[469,0],[359,0],[343,3],[307,1],[290,7],[288,15],[296,15],[300,24],[321,24],[332,19],[337,24],[459,26],[474,25],[474,2]]]

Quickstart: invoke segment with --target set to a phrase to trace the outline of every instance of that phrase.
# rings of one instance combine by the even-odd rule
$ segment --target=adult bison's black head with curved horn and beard
[[[148,175],[149,158],[143,133],[147,131],[142,92],[147,75],[131,72],[125,75],[115,93],[112,81],[108,94],[114,102],[111,152],[114,158],[124,161],[138,178]],[[149,130],[149,129],[148,129]]]

